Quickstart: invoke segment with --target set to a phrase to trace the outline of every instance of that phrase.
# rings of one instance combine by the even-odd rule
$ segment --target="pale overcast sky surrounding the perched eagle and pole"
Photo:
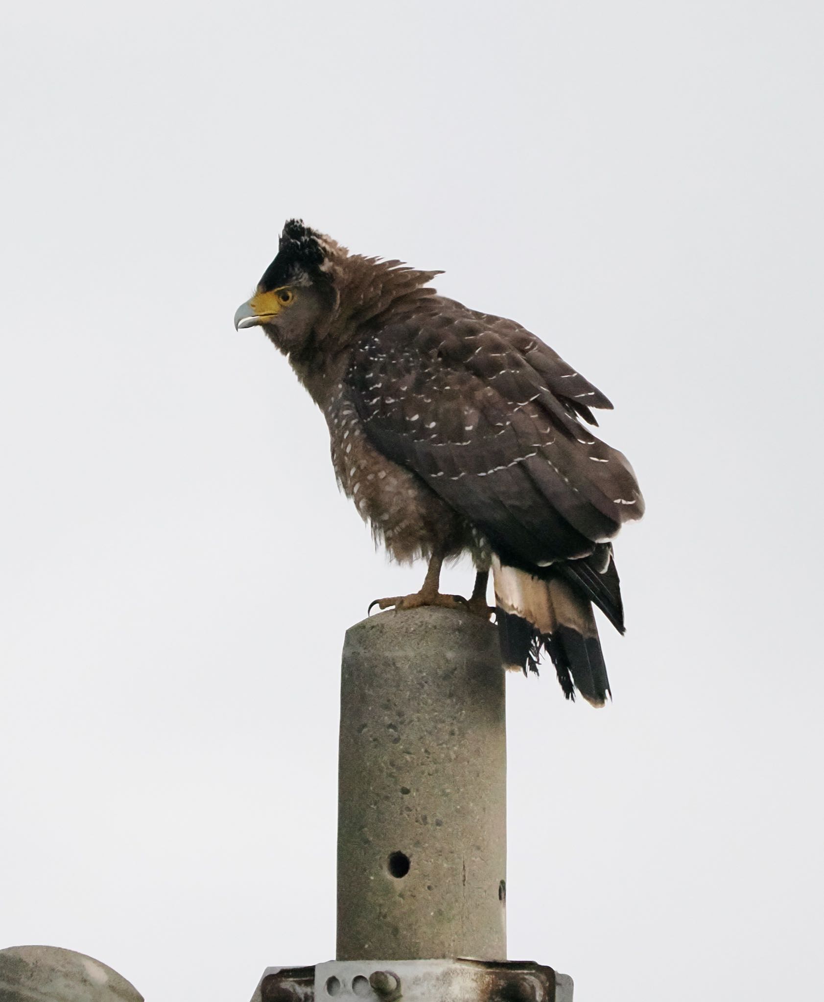
[[[510,957],[818,995],[822,64],[799,0],[4,7],[0,946],[334,954],[343,633],[423,568],[233,329],[302,215],[548,341],[647,496],[613,704],[508,680]]]

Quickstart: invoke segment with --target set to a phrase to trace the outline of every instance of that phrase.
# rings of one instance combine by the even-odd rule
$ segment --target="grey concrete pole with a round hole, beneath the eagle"
[[[346,635],[339,960],[506,957],[506,733],[497,633],[441,608]]]

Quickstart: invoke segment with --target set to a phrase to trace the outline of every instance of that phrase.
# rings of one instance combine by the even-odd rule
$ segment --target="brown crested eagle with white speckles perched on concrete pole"
[[[567,698],[609,691],[592,604],[624,632],[611,538],[644,500],[625,457],[581,421],[611,408],[519,324],[427,288],[439,272],[351,255],[299,219],[235,327],[263,327],[321,408],[338,482],[400,561],[429,561],[414,595],[382,609],[468,607],[501,652],[536,670],[545,650]],[[467,601],[441,564],[477,569]]]

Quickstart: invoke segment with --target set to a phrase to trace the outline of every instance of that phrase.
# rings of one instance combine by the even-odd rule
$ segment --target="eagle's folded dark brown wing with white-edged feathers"
[[[429,301],[365,335],[346,381],[375,447],[515,566],[586,557],[643,513],[628,461],[578,421],[608,400],[516,324]]]

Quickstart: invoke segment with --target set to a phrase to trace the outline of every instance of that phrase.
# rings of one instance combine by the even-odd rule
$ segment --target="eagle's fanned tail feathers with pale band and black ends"
[[[567,699],[575,689],[593,706],[609,692],[592,604],[557,574],[534,577],[493,560],[498,632],[507,668],[537,671],[545,650]]]

